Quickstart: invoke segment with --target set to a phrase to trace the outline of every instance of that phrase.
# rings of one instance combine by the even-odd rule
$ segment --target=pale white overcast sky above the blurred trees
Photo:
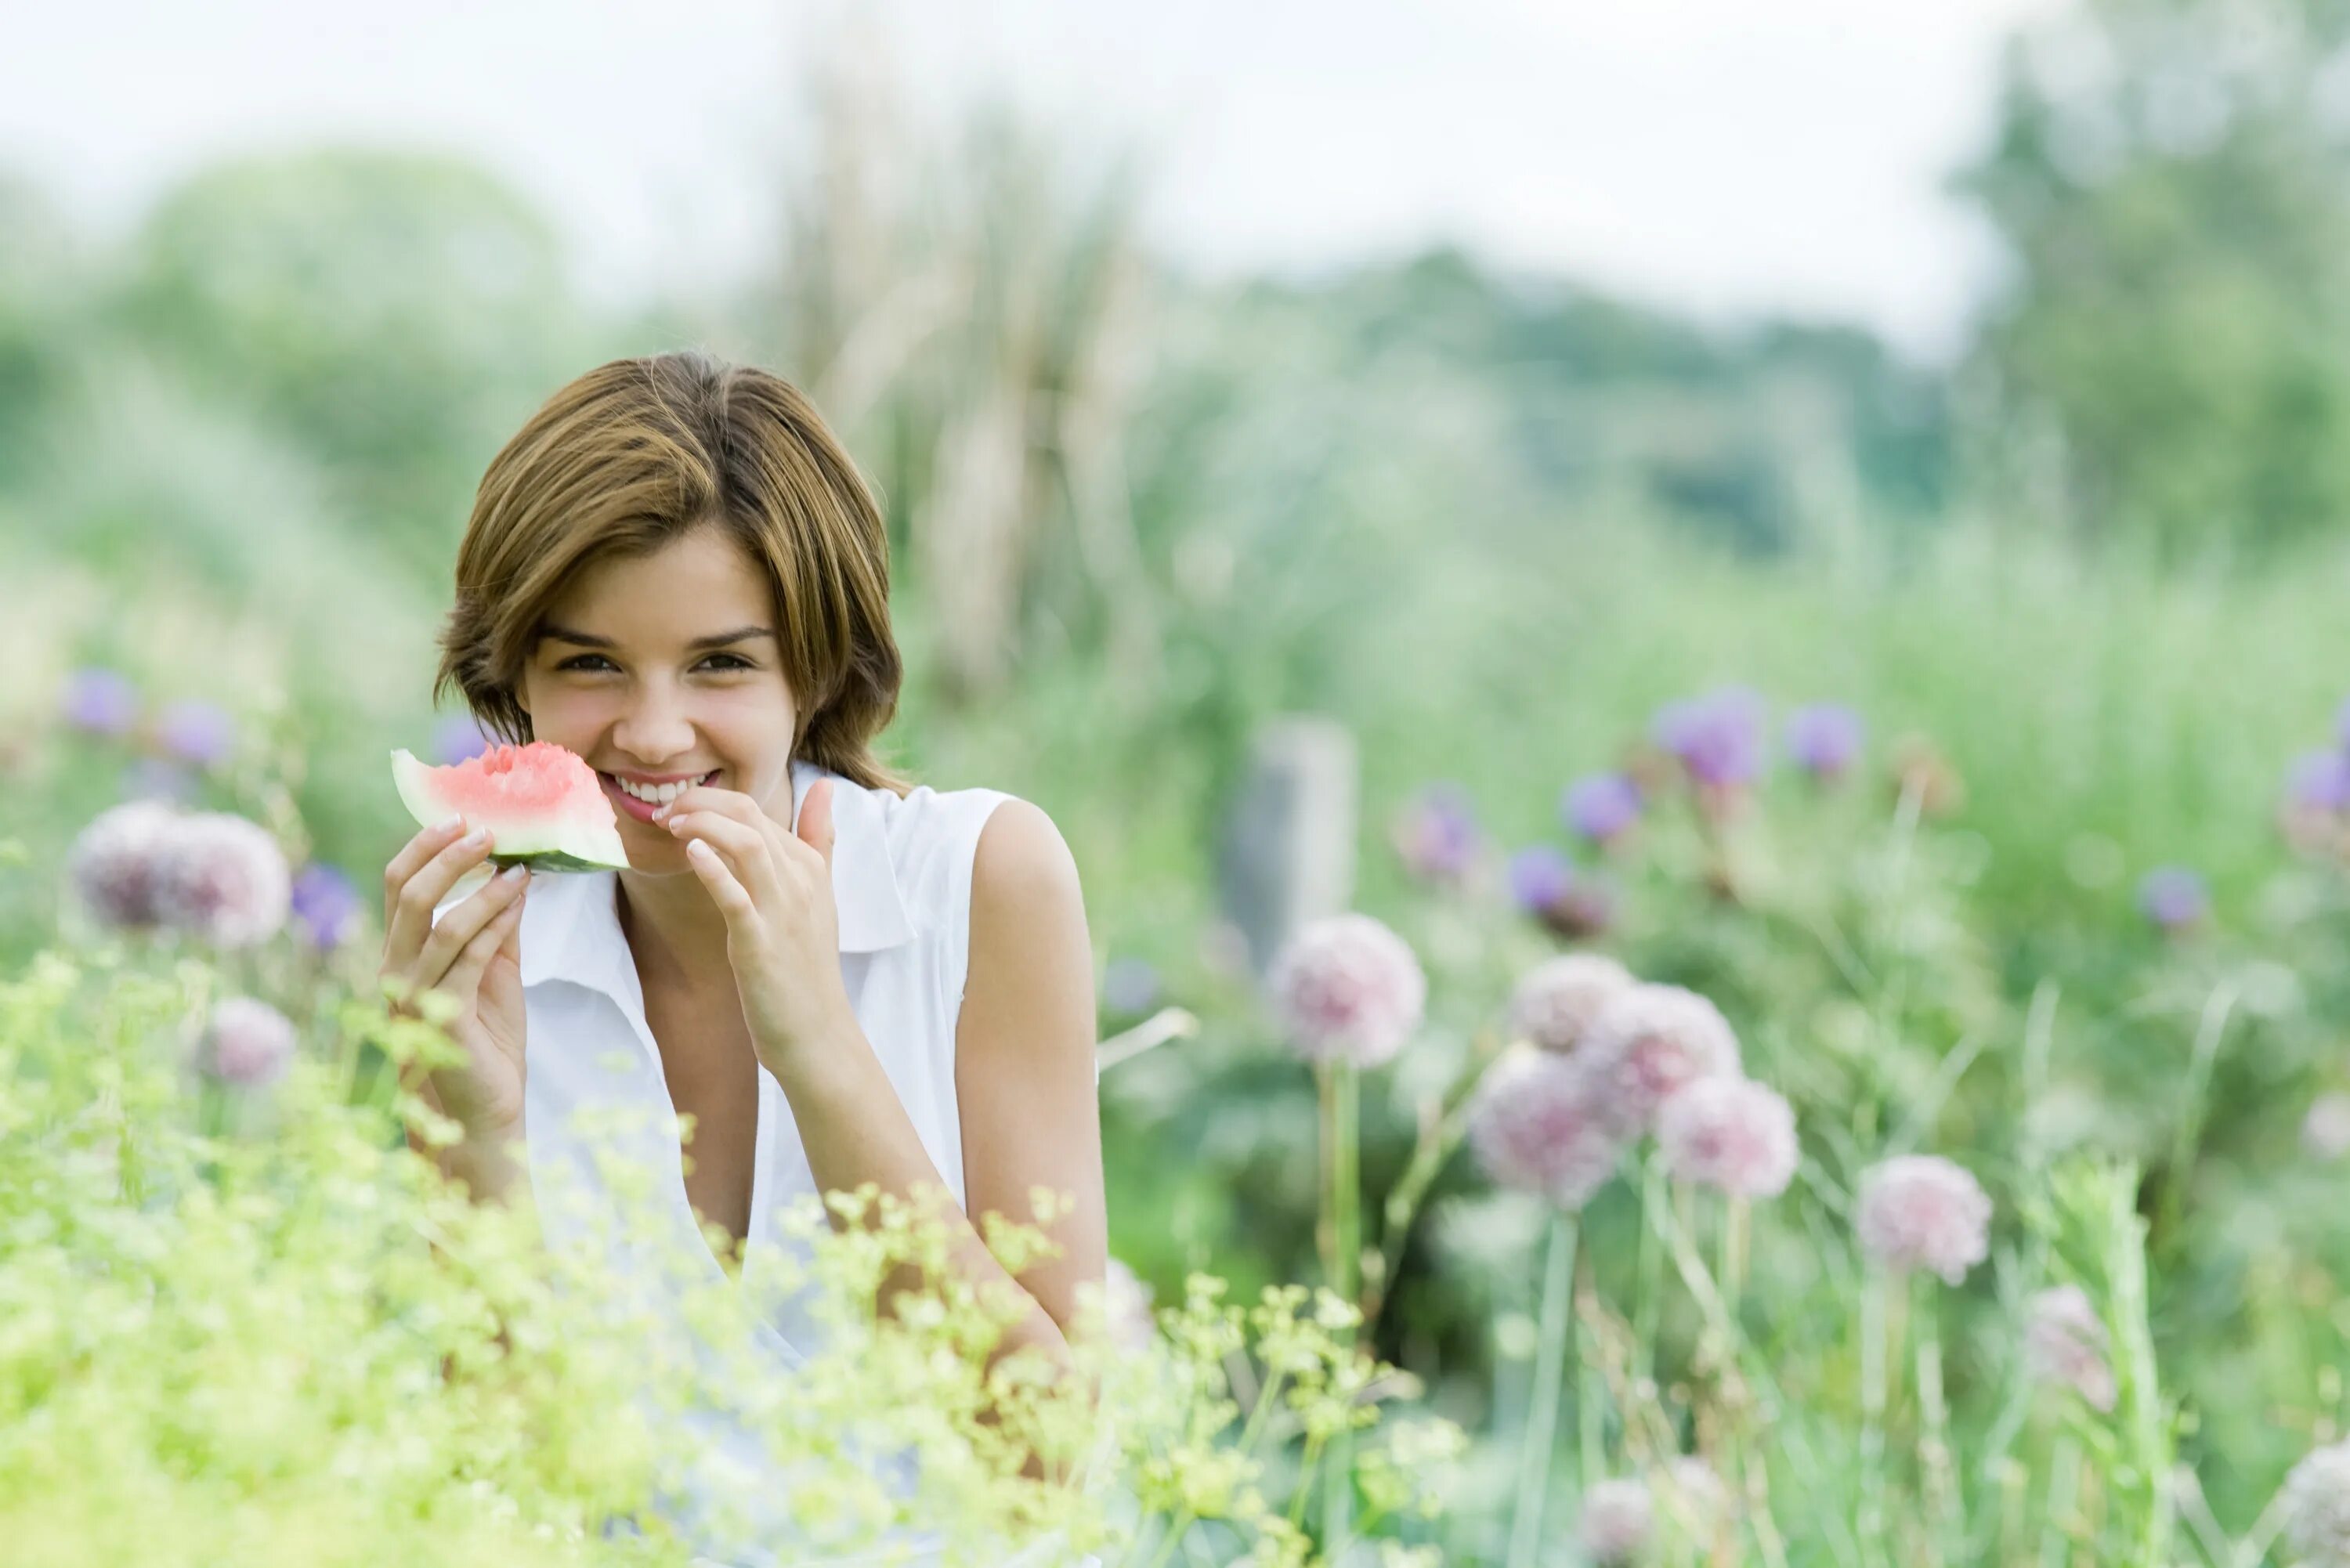
[[[1149,153],[1198,266],[1450,237],[1708,317],[1859,317],[1943,353],[1995,252],[1941,193],[2002,35],[2052,0],[895,0],[924,103],[1008,85]],[[120,226],[226,150],[461,148],[602,299],[724,277],[815,0],[82,0],[0,31],[0,158]]]

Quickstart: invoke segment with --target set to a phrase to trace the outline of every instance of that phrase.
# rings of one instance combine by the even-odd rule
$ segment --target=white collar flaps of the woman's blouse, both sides
[[[898,889],[881,790],[792,759],[792,827],[808,785],[832,780],[832,905],[841,952],[881,952],[914,938],[914,922]],[[627,936],[613,903],[618,872],[566,872],[533,879],[522,910],[522,983],[573,980],[609,990],[616,973],[634,976]],[[552,886],[550,886],[552,884]]]

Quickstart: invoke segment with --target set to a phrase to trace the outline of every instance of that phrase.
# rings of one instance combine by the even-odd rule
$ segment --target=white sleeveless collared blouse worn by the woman
[[[872,1041],[898,1100],[938,1175],[968,1211],[964,1192],[964,1128],[954,1093],[954,1032],[964,1001],[971,938],[971,867],[980,827],[1006,799],[1001,790],[938,792],[921,785],[902,799],[867,790],[811,762],[792,762],[792,825],[808,785],[832,778],[832,896],[839,910],[841,980],[865,1039]],[[691,872],[689,872],[691,875]],[[627,1161],[630,1187],[660,1218],[663,1248],[700,1258],[710,1281],[726,1272],[710,1255],[686,1199],[674,1105],[660,1051],[644,1016],[644,987],[620,931],[616,872],[571,872],[531,879],[522,912],[522,985],[529,1039],[524,1046],[524,1138],[540,1225],[550,1248],[599,1248],[625,1281],[656,1274],[592,1213],[609,1194],[595,1150]],[[461,882],[439,914],[479,882]],[[757,1305],[757,1333],[783,1368],[820,1347],[820,1326],[801,1300],[773,1284],[773,1262],[799,1248],[776,1225],[783,1206],[815,1192],[808,1157],[792,1121],[792,1105],[776,1077],[759,1067],[759,1131],[752,1166],[750,1232],[740,1288]],[[555,1199],[569,1201],[555,1201]],[[585,1201],[585,1208],[578,1204]],[[595,1255],[595,1251],[590,1251]],[[674,1267],[674,1262],[670,1265]],[[658,1300],[658,1293],[653,1295]],[[693,1427],[717,1443],[712,1462],[757,1476],[761,1446],[719,1413]],[[898,1458],[879,1465],[905,1476]],[[766,1490],[757,1483],[752,1490]],[[790,1547],[787,1523],[764,1523],[750,1544],[719,1544],[700,1523],[703,1488],[677,1500],[674,1519],[700,1535],[698,1547],[728,1566],[884,1561],[881,1556],[808,1554]],[[898,1537],[916,1549],[933,1537]],[[778,1549],[785,1547],[785,1549]]]

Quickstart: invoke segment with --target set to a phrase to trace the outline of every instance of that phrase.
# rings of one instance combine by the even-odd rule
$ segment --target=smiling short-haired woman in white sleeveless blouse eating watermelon
[[[884,520],[815,409],[698,350],[588,371],[482,477],[435,693],[588,759],[627,870],[458,889],[494,846],[423,830],[383,875],[383,973],[463,1009],[423,1093],[477,1199],[592,1187],[578,1112],[677,1112],[691,1161],[637,1152],[712,1276],[785,1246],[778,1206],[874,1182],[952,1194],[956,1267],[1001,1284],[971,1222],[1043,1185],[1074,1206],[1006,1352],[1067,1354],[1107,1251],[1076,865],[1029,802],[874,759],[898,684]],[[761,1312],[787,1363],[813,1347]]]

